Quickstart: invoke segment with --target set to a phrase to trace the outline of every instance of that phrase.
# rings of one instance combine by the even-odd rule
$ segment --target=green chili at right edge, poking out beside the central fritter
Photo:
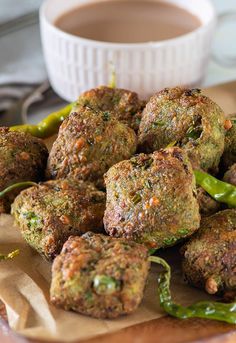
[[[197,185],[201,186],[216,201],[236,207],[236,187],[220,181],[214,176],[199,170],[194,171]]]

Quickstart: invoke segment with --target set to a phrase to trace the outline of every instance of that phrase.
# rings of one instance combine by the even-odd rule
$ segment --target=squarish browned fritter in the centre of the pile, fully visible
[[[105,175],[109,235],[161,248],[199,227],[195,179],[187,155],[168,148],[122,161]]]

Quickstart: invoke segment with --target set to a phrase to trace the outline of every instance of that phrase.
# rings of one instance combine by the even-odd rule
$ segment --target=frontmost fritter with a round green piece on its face
[[[131,313],[142,300],[149,267],[140,244],[92,233],[70,237],[53,262],[51,301],[96,318]]]

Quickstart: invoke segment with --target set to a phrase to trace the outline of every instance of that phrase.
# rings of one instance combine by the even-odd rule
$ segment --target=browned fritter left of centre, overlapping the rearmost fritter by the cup
[[[60,127],[48,159],[48,178],[74,177],[104,185],[103,174],[136,151],[137,137],[109,112],[80,108]]]

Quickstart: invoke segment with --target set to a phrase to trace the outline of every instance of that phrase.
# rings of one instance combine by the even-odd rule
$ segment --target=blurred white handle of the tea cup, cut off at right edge
[[[223,25],[229,22],[234,22],[236,27],[236,12],[225,12],[218,16],[218,29],[222,28]],[[216,29],[217,32],[217,29]],[[233,42],[231,42],[233,44]],[[235,56],[229,56],[227,54],[224,54],[223,51],[216,51],[216,49],[213,49],[212,52],[212,58],[213,60],[223,66],[223,67],[235,67],[236,66],[236,54]]]

